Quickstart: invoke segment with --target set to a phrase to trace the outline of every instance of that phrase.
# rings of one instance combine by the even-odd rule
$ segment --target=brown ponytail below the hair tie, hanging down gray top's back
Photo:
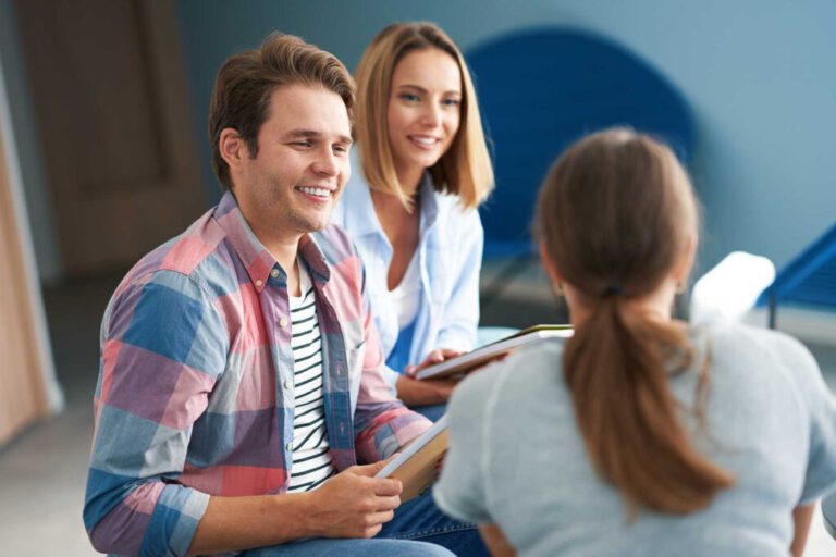
[[[598,473],[637,507],[684,515],[705,508],[734,476],[690,444],[666,363],[693,348],[683,327],[629,315],[608,293],[566,343],[564,373],[578,429]],[[708,369],[705,370],[708,373]],[[698,412],[701,398],[698,393]]]

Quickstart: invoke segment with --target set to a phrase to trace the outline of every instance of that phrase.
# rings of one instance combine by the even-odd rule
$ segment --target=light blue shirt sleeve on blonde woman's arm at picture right
[[[462,246],[456,258],[459,267],[434,348],[469,351],[476,344],[476,329],[479,324],[479,273],[484,231],[479,211],[467,210],[456,216],[463,221],[462,234],[455,238],[456,244]]]

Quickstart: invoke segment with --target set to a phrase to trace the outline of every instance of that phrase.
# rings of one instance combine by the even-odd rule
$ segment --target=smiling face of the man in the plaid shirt
[[[351,174],[352,131],[343,99],[321,87],[275,89],[258,133],[258,154],[245,148],[233,191],[265,240],[294,240],[323,228]]]

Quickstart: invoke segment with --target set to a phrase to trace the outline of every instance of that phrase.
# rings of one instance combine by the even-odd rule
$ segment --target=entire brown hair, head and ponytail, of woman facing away
[[[590,310],[566,343],[564,373],[589,457],[630,509],[688,513],[734,478],[691,445],[667,375],[693,349],[686,331],[625,301],[655,293],[697,238],[690,182],[668,148],[629,129],[570,147],[543,184],[544,256]],[[702,391],[708,367],[699,382]],[[704,394],[704,393],[703,393]],[[697,393],[698,417],[703,397]]]

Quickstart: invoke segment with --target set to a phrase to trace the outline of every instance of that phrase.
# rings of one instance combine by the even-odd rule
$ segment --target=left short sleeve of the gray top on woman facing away
[[[500,381],[495,366],[467,376],[447,406],[450,449],[432,496],[447,515],[476,523],[491,523],[488,509],[491,407]]]

